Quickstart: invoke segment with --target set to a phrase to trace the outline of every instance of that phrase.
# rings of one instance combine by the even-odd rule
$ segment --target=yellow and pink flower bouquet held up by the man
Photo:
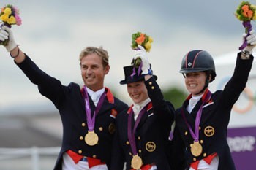
[[[12,25],[21,25],[21,18],[19,16],[19,10],[12,6],[11,4],[7,4],[5,7],[1,8],[0,13],[1,26],[8,26],[11,28]],[[0,41],[0,45],[8,45],[9,39],[4,42]]]

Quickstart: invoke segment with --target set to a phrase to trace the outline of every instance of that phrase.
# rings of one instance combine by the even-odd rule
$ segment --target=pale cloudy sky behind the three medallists
[[[256,4],[256,0],[250,1]],[[123,66],[132,61],[132,34],[140,31],[154,42],[148,59],[160,87],[184,89],[178,72],[189,50],[206,50],[214,59],[238,51],[244,27],[234,13],[241,1],[152,1],[152,0],[56,0],[5,1],[20,9],[21,26],[12,26],[15,42],[44,72],[63,85],[80,77],[78,56],[87,46],[102,46],[110,55],[110,72],[105,86],[124,101],[128,98]],[[252,23],[255,27],[255,22]],[[218,75],[218,72],[217,72]],[[0,114],[38,107],[50,101],[40,96],[37,86],[15,66],[10,54],[0,47]],[[29,106],[29,107],[28,107]],[[50,109],[53,104],[50,104]]]

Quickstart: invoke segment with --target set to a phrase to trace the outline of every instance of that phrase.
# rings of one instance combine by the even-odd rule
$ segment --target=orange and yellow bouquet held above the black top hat
[[[151,42],[153,42],[153,39],[151,36],[148,36],[145,33],[137,32],[135,34],[132,34],[132,49],[133,50],[140,50],[138,45],[144,47],[146,52],[150,52],[151,50]],[[140,66],[141,60],[140,58],[137,58],[135,61],[132,61],[132,65],[138,68]]]

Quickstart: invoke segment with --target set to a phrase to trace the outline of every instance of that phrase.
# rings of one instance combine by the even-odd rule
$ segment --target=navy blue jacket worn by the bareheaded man
[[[108,88],[105,88],[107,96],[102,108],[96,116],[94,131],[99,136],[99,144],[89,146],[84,141],[88,125],[86,122],[85,102],[80,86],[71,82],[69,85],[61,85],[59,80],[42,72],[38,66],[26,56],[18,66],[29,77],[29,80],[38,86],[39,92],[50,99],[59,109],[63,125],[63,139],[61,151],[54,170],[61,170],[62,155],[67,150],[80,153],[91,158],[98,158],[110,167],[110,154],[113,134],[116,128],[115,118],[121,110],[127,108],[118,98],[113,97]],[[90,98],[92,111],[95,107]]]

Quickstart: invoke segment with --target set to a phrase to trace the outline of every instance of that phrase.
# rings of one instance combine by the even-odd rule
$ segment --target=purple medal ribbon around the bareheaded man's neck
[[[91,117],[91,107],[90,107],[90,102],[89,102],[89,96],[86,90],[86,86],[83,87],[84,90],[84,101],[86,103],[86,117],[87,117],[87,124],[88,124],[88,129],[89,131],[94,131],[94,125],[95,125],[95,116],[99,112],[99,109],[102,107],[104,98],[106,96],[106,93],[102,93],[102,96],[99,98],[99,103],[97,104],[97,107],[94,111],[94,114]]]

